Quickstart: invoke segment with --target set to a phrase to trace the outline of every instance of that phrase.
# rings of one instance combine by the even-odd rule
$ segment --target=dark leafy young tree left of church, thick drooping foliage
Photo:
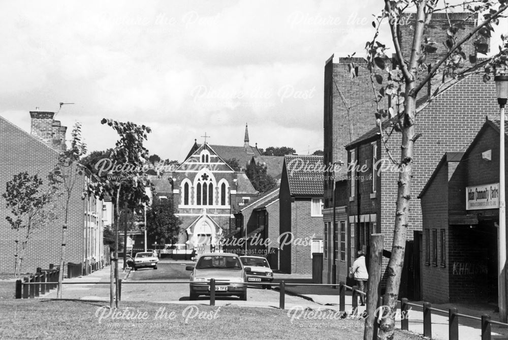
[[[119,136],[115,148],[111,152],[112,159],[121,165],[121,173],[109,172],[106,178],[98,182],[89,183],[84,195],[94,195],[103,199],[105,195],[113,197],[115,202],[114,226],[115,226],[115,305],[118,307],[118,225],[120,216],[120,200],[123,203],[123,211],[128,209],[137,211],[143,204],[149,201],[145,188],[148,180],[144,173],[144,166],[148,163],[148,149],[143,146],[143,141],[151,129],[145,125],[136,125],[133,122],[120,122],[103,118],[102,124],[112,127]],[[125,224],[127,226],[127,224]],[[124,230],[124,244],[127,233]],[[126,266],[126,254],[123,254],[123,266]],[[113,288],[111,288],[113,290]],[[113,295],[113,294],[111,294]],[[113,301],[110,301],[111,307]]]

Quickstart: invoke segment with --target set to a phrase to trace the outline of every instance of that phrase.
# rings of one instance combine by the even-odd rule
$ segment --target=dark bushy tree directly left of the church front
[[[146,210],[146,231],[160,243],[175,244],[178,241],[181,221],[175,216],[171,199],[153,196],[152,205]]]

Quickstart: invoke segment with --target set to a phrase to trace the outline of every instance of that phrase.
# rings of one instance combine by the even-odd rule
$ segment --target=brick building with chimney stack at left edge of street
[[[30,111],[31,134],[0,117],[0,184],[19,172],[39,174],[47,184],[46,175],[57,164],[59,153],[66,148],[66,127],[53,119],[54,112]],[[86,272],[91,264],[103,262],[103,204],[95,198],[82,199],[82,190],[90,181],[89,175],[79,177],[72,192],[66,242],[66,262],[82,263]],[[57,219],[44,228],[35,229],[28,243],[21,272],[34,272],[37,267],[60,263],[63,224],[63,198],[55,202]],[[10,214],[0,196],[0,272],[14,271],[16,232],[5,217]],[[100,265],[99,265],[100,266]]]

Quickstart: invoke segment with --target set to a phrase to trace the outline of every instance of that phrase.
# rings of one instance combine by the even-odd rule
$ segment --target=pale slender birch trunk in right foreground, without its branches
[[[406,86],[406,93],[412,83]],[[387,288],[383,299],[386,314],[379,327],[379,339],[393,339],[395,327],[395,312],[399,294],[400,278],[404,265],[404,251],[406,245],[406,231],[409,217],[409,200],[411,199],[412,157],[415,136],[414,118],[416,112],[416,98],[407,96],[405,112],[402,122],[401,169],[399,171],[397,203],[395,212],[395,228],[393,230],[392,255],[386,269]]]

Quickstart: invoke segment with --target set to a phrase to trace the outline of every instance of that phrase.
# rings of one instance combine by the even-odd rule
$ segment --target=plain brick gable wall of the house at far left
[[[50,125],[51,127],[51,125]],[[5,191],[5,183],[12,179],[14,174],[27,171],[30,175],[38,173],[47,183],[46,175],[54,168],[58,152],[42,143],[34,136],[12,125],[0,117],[0,190]],[[66,261],[84,261],[84,201],[81,199],[81,190],[84,179],[78,181],[76,190],[71,197],[69,223],[67,230]],[[51,222],[44,228],[34,231],[27,246],[27,253],[23,260],[22,272],[33,272],[39,266],[47,267],[49,263],[59,264],[61,249],[61,226],[63,223],[63,199],[55,201],[55,211],[58,220]],[[0,272],[13,272],[16,233],[5,220],[10,212],[5,208],[5,200],[0,197],[0,234],[2,244],[0,247]]]

